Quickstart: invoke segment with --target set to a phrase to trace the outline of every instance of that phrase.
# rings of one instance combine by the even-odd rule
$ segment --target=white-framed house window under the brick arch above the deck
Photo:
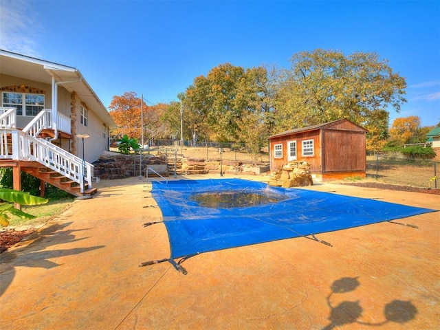
[[[35,116],[44,109],[44,95],[4,91],[1,103],[3,107],[17,108],[17,115]]]

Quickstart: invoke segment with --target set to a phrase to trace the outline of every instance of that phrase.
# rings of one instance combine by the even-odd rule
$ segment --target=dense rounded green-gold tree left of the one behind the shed
[[[211,69],[206,77],[195,78],[181,98],[192,140],[198,135],[217,142],[243,140],[243,118],[249,113],[260,117],[267,111],[267,94],[267,72],[263,67],[243,69],[225,63]]]

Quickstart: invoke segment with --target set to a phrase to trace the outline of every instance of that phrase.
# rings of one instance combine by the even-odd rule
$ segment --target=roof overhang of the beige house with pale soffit
[[[81,100],[87,103],[89,109],[94,111],[109,128],[114,129],[117,127],[109,111],[104,107],[94,90],[91,89],[79,70],[74,67],[0,50],[0,72],[8,76],[34,80],[49,85],[52,84],[52,77],[54,77],[57,83],[64,82],[62,86],[67,91],[76,91]]]

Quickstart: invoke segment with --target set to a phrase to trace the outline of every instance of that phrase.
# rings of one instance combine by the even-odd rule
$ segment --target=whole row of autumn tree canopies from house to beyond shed
[[[180,140],[183,109],[184,140],[258,149],[274,133],[345,118],[369,131],[367,149],[377,151],[388,138],[389,111],[406,102],[405,88],[405,79],[374,52],[298,52],[282,69],[224,63],[197,76],[179,94],[181,102],[144,105],[145,132]],[[120,126],[115,134],[140,140],[140,98],[115,96],[110,108]]]

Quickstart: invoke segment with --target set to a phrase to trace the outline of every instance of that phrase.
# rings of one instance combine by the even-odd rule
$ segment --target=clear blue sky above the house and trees
[[[289,67],[317,48],[377,52],[406,78],[391,122],[440,122],[440,1],[0,0],[0,48],[76,67],[106,107],[177,100],[221,63]]]

